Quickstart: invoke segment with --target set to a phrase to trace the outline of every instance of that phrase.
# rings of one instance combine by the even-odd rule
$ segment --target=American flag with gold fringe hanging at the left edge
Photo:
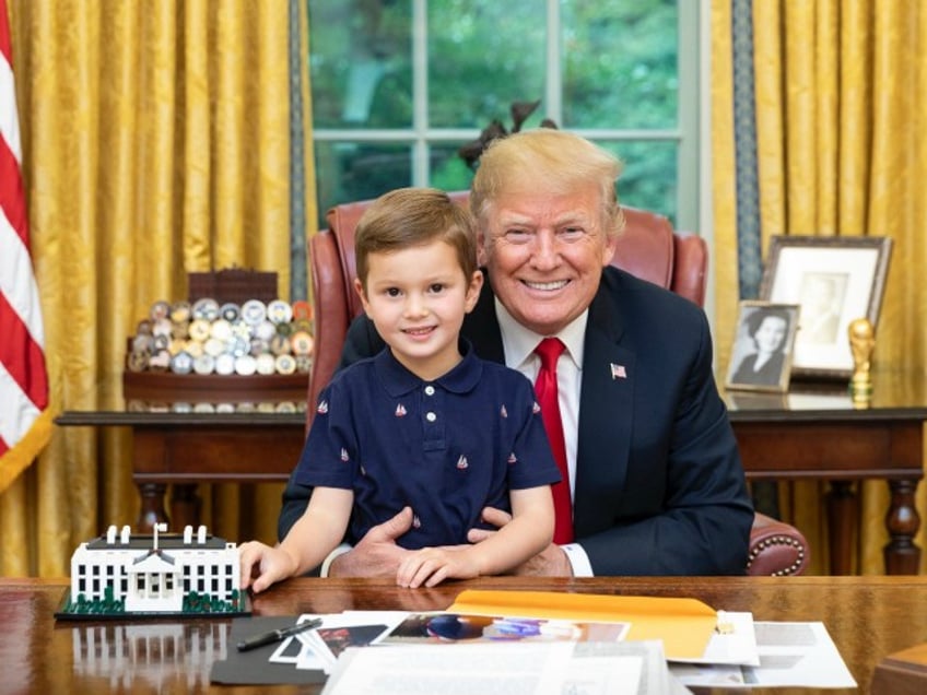
[[[7,0],[0,0],[0,492],[51,436],[42,307],[30,252]]]

